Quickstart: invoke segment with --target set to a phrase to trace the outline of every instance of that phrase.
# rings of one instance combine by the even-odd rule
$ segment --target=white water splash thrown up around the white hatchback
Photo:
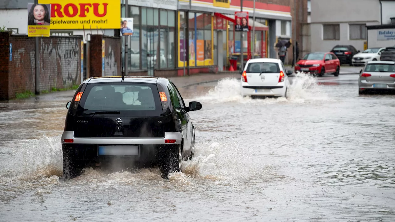
[[[218,81],[218,84],[209,90],[204,96],[199,96],[193,100],[204,103],[278,103],[278,102],[308,102],[312,100],[328,100],[327,94],[322,90],[322,86],[316,83],[315,77],[308,73],[297,72],[295,77],[290,78],[291,85],[289,98],[267,98],[265,100],[253,100],[250,97],[241,96],[240,80],[225,78]]]

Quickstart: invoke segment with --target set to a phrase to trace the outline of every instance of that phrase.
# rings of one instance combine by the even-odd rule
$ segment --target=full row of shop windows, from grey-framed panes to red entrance
[[[242,44],[240,32],[234,32],[234,24],[222,17],[203,12],[128,7],[130,17],[134,19],[134,33],[126,37],[128,71],[148,70],[148,75],[154,75],[154,70],[218,65],[218,59],[228,67],[231,57],[240,56],[242,46],[246,56],[246,33]],[[122,17],[124,14],[122,6]],[[265,19],[256,18],[256,21],[266,24]],[[218,35],[221,40],[218,40]],[[252,50],[254,45],[251,53],[255,57],[267,57],[266,36],[266,31],[256,31],[252,36],[251,30],[250,48]],[[219,48],[223,53],[218,57]]]

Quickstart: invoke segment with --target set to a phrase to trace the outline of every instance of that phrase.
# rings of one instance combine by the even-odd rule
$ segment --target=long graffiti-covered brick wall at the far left
[[[2,41],[2,44],[12,44],[12,60],[9,61],[9,49],[2,49],[1,53],[8,54],[0,58],[1,69],[4,70],[2,80],[8,75],[8,95],[2,96],[2,100],[15,98],[17,93],[35,91],[34,38],[6,34],[8,41]],[[1,35],[1,39],[6,40],[4,32]],[[40,92],[81,83],[81,41],[82,36],[40,38]],[[8,68],[5,65],[7,61]]]

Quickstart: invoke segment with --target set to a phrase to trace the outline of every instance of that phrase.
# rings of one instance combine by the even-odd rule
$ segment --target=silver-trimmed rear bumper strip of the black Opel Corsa
[[[65,139],[73,139],[73,143],[65,143]],[[65,131],[62,134],[62,144],[168,144],[166,139],[175,139],[172,144],[181,144],[180,132],[166,132],[163,138],[119,138],[119,137],[74,137],[73,131]]]

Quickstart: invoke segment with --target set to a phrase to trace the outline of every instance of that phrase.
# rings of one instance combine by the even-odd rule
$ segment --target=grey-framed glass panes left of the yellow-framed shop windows
[[[129,6],[133,35],[128,38],[128,71],[175,68],[176,11]],[[121,9],[125,16],[124,6]],[[153,72],[149,72],[153,75]]]

